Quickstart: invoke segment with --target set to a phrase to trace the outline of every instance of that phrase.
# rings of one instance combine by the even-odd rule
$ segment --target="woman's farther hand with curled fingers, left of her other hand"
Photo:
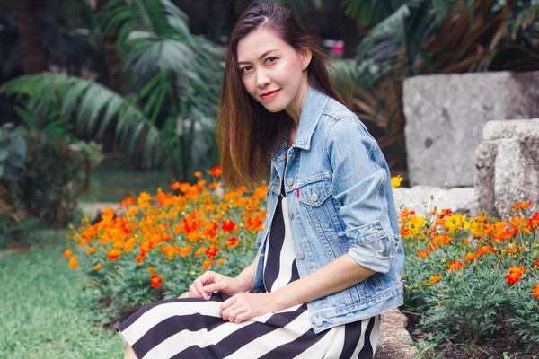
[[[236,278],[223,276],[208,270],[190,285],[189,297],[209,299],[209,295],[216,291],[232,296],[235,293],[242,292],[242,290],[242,285]]]

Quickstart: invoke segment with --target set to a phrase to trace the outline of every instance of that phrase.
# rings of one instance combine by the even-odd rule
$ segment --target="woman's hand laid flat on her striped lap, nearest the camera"
[[[272,293],[237,293],[221,303],[220,314],[223,320],[241,323],[259,315],[278,311]]]

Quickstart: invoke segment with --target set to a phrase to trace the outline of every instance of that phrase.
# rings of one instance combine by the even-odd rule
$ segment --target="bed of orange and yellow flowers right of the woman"
[[[404,208],[405,306],[423,337],[472,348],[502,332],[516,344],[539,344],[539,213],[515,204],[505,221],[451,210],[425,216]],[[406,307],[406,308],[405,308]]]

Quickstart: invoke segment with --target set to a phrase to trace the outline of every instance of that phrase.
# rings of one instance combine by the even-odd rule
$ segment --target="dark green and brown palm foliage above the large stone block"
[[[361,118],[388,129],[381,147],[402,138],[402,81],[418,74],[531,70],[539,57],[539,3],[502,0],[343,0],[373,26],[355,63],[343,63]]]

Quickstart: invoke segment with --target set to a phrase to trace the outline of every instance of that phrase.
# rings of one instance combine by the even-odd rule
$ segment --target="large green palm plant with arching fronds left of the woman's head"
[[[127,95],[58,74],[23,76],[3,91],[29,95],[31,111],[59,111],[81,136],[99,138],[117,120],[120,148],[147,167],[165,162],[175,179],[187,179],[192,163],[215,162],[223,51],[191,35],[185,14],[168,0],[111,0],[101,11],[104,34],[118,34]]]

